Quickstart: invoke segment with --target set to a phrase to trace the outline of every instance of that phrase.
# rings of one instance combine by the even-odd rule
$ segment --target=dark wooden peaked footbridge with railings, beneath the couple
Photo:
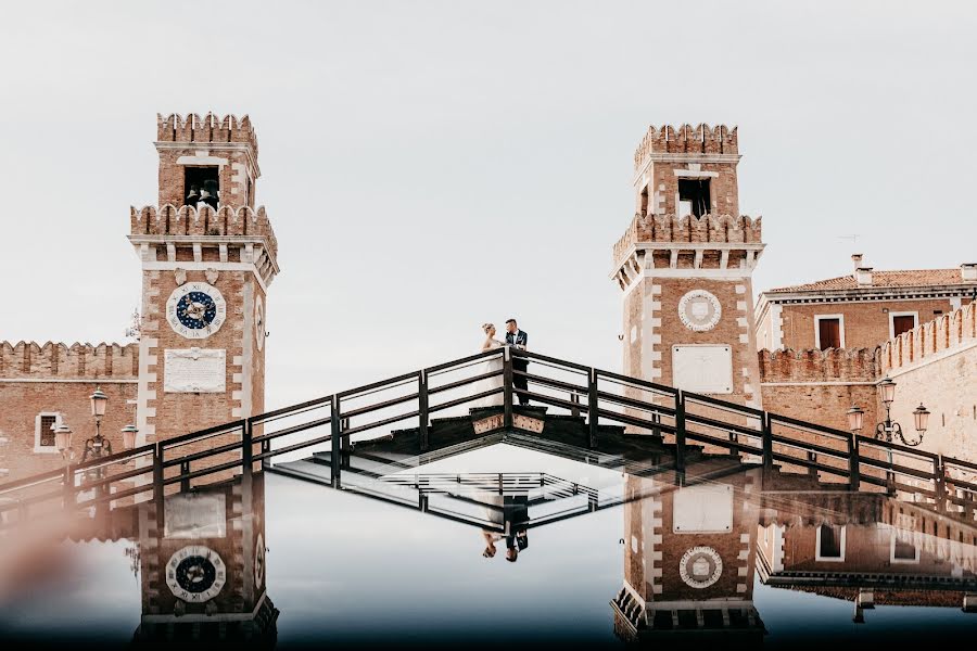
[[[513,357],[531,361],[531,372],[513,368]],[[515,386],[517,375],[526,391]],[[515,406],[518,394],[546,409]],[[466,411],[483,398],[499,405]],[[680,483],[690,463],[722,456],[761,467],[771,487],[805,474],[813,484],[912,496],[970,520],[977,507],[975,463],[505,347],[0,485],[0,515],[10,525],[61,507],[162,500],[262,470],[340,488],[369,470],[351,463],[354,455],[389,471],[499,434],[634,472],[669,469]],[[163,510],[156,514],[162,522]]]

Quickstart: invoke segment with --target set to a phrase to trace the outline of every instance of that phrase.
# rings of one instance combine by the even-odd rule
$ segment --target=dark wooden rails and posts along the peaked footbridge
[[[452,381],[441,386],[429,387],[429,380],[433,375],[466,369],[474,366],[481,360],[488,360],[495,357],[502,357],[503,370],[500,371],[478,373],[473,376],[467,376],[460,380]],[[512,360],[519,358],[525,359],[528,361],[534,360],[541,366],[549,366],[556,369],[586,374],[587,386],[584,387],[582,385],[564,382],[562,380],[547,378],[538,373],[530,373],[526,371],[516,370],[512,368]],[[496,378],[499,375],[503,376],[502,387],[493,387],[488,391],[479,392],[472,395],[447,400],[442,404],[429,405],[428,399],[433,394],[446,392],[454,388],[460,388],[477,382],[481,382],[482,380]],[[558,390],[560,392],[569,393],[571,398],[573,398],[574,395],[581,395],[581,397],[583,395],[586,395],[587,400],[586,403],[582,400],[578,401],[575,398],[567,400],[554,395],[544,395],[534,391],[516,387],[513,385],[513,380],[517,376],[522,378],[526,382],[534,385],[548,386],[551,390]],[[655,401],[642,399],[639,397],[616,395],[608,393],[607,391],[601,391],[601,380],[604,380],[605,386],[610,383],[624,385],[625,387],[631,386],[638,390],[657,392],[660,395],[656,396],[651,400],[658,399],[659,401],[664,401],[667,404],[658,405],[655,404]],[[356,408],[351,409],[346,412],[343,412],[342,410],[342,403],[344,400],[350,400],[352,398],[363,398],[367,395],[371,395],[372,393],[377,393],[382,390],[405,386],[414,382],[417,382],[418,388],[417,391],[410,392],[407,395],[398,396],[395,398],[388,398],[376,404],[361,407],[357,406]],[[421,436],[419,437],[419,441],[421,451],[424,451],[428,445],[428,418],[431,413],[451,407],[460,406],[478,398],[497,395],[499,393],[504,395],[505,416],[503,427],[506,430],[518,430],[518,427],[515,426],[513,420],[513,396],[526,395],[543,404],[554,405],[570,410],[576,410],[580,413],[586,413],[587,421],[589,423],[589,442],[592,447],[596,447],[597,445],[597,436],[599,431],[598,423],[601,418],[643,430],[651,430],[652,432],[658,431],[660,433],[674,435],[676,442],[675,468],[680,471],[684,470],[685,438],[687,436],[696,441],[705,441],[711,445],[726,447],[731,451],[737,454],[740,451],[749,451],[751,454],[761,452],[764,467],[770,467],[774,461],[783,461],[791,465],[807,467],[811,470],[814,470],[815,472],[826,472],[830,474],[848,476],[853,488],[857,488],[861,482],[874,485],[879,485],[879,482],[883,482],[883,480],[877,476],[862,477],[860,471],[862,465],[865,465],[866,469],[881,470],[890,476],[894,476],[898,474],[932,481],[937,484],[938,500],[944,499],[944,494],[949,489],[949,485],[968,484],[963,480],[954,480],[953,477],[950,477],[948,475],[948,472],[950,470],[977,472],[977,463],[974,462],[950,457],[942,457],[937,454],[927,452],[913,447],[888,443],[867,436],[854,436],[850,432],[843,432],[841,430],[835,430],[833,427],[828,427],[817,423],[801,421],[785,414],[772,413],[769,411],[746,407],[712,396],[684,392],[675,387],[648,382],[639,378],[631,378],[611,371],[586,367],[581,363],[562,360],[540,353],[519,350],[511,346],[504,346],[502,348],[495,348],[491,350],[480,352],[474,355],[468,355],[452,361],[439,363],[424,369],[419,369],[417,371],[411,371],[409,373],[395,375],[393,378],[381,380],[379,382],[364,384],[361,386],[357,386],[355,388],[346,390],[335,394],[320,396],[318,398],[306,400],[304,403],[300,403],[289,407],[254,414],[250,418],[233,420],[228,423],[218,424],[204,430],[189,432],[175,436],[173,438],[143,445],[135,449],[116,452],[105,457],[94,458],[84,463],[69,463],[61,470],[48,471],[45,473],[38,473],[33,476],[7,482],[4,484],[0,484],[0,495],[10,495],[15,490],[49,484],[58,480],[64,482],[64,487],[63,490],[59,493],[45,494],[43,496],[33,496],[29,499],[13,499],[10,502],[2,503],[0,505],[0,513],[7,510],[21,508],[25,503],[34,502],[39,497],[50,498],[60,494],[64,495],[65,503],[74,506],[74,498],[78,493],[83,490],[90,490],[92,487],[106,486],[112,482],[131,478],[140,474],[149,474],[150,472],[153,473],[153,482],[151,484],[148,484],[145,487],[140,488],[139,490],[137,490],[137,493],[153,489],[154,497],[161,498],[162,486],[166,486],[177,482],[179,482],[181,486],[189,486],[189,482],[192,478],[237,468],[242,469],[242,472],[252,472],[252,465],[256,461],[261,461],[264,464],[268,459],[276,455],[284,454],[286,451],[300,450],[313,445],[320,445],[326,442],[332,445],[334,455],[333,458],[339,458],[339,455],[342,454],[343,446],[345,445],[344,442],[348,441],[351,435],[373,427],[385,426],[386,424],[392,424],[394,422],[407,419],[420,419]],[[668,399],[661,400],[662,398]],[[382,418],[376,422],[365,424],[357,423],[355,426],[350,424],[348,419],[351,417],[358,417],[366,413],[380,411],[382,409],[386,409],[397,405],[414,403],[415,400],[418,405],[417,409],[409,409],[406,412],[397,413],[393,417]],[[601,405],[604,405],[605,407],[601,407]],[[619,407],[623,407],[623,412],[611,411],[606,408],[607,405],[617,405]],[[759,429],[753,429],[745,424],[738,424],[735,422],[725,422],[720,418],[713,418],[712,416],[702,416],[694,411],[689,411],[688,408],[696,405],[706,405],[725,410],[729,412],[729,414],[732,414],[732,417],[728,419],[731,421],[735,420],[736,418],[759,419]],[[254,427],[256,425],[266,424],[272,420],[282,418],[295,417],[320,407],[329,408],[328,417],[318,418],[308,423],[288,426],[278,432],[254,435]],[[648,412],[650,413],[650,418],[643,418],[640,416],[634,414],[633,412],[627,412],[629,409]],[[661,419],[662,417],[674,420],[674,424],[662,423],[656,420]],[[688,429],[688,424],[697,423],[700,425],[712,427],[713,430],[724,430],[728,432],[729,441],[724,441],[720,436],[712,436]],[[312,441],[300,442],[297,444],[288,445],[283,448],[278,448],[275,450],[270,448],[270,441],[275,438],[327,424],[330,425],[330,434],[327,436],[320,436]],[[830,436],[837,441],[843,442],[847,446],[847,449],[830,449],[815,443],[790,438],[784,433],[774,434],[773,427],[776,425],[802,429],[811,433]],[[735,434],[737,433],[760,438],[762,442],[762,449],[740,443],[736,439]],[[223,434],[236,434],[237,437],[230,443],[210,447],[201,451],[187,452],[176,457],[166,455],[167,450],[172,452],[173,448],[179,447],[183,444],[199,442]],[[775,443],[781,445],[788,445],[789,447],[794,447],[800,450],[805,450],[809,452],[809,458],[792,458],[789,455],[784,455],[783,452],[775,452],[773,450],[773,445]],[[255,454],[254,451],[254,446],[256,445],[261,446],[261,451],[257,454]],[[242,450],[240,459],[236,459],[233,461],[225,463],[218,463],[216,465],[195,471],[189,470],[189,464],[191,461],[198,461],[236,449]],[[910,468],[901,463],[897,464],[891,461],[884,462],[878,459],[872,459],[864,455],[864,451],[866,449],[894,452],[900,456],[908,457],[909,459],[924,462],[926,463],[927,468]],[[89,482],[81,486],[74,485],[74,477],[83,471],[92,468],[99,468],[101,471],[101,469],[107,468],[109,465],[130,461],[135,458],[145,458],[149,455],[152,455],[152,467],[147,465],[137,470],[124,469],[115,474],[110,473],[107,477],[100,476],[97,481]],[[849,460],[849,468],[841,469],[819,463],[816,461],[816,455],[824,455],[839,459],[847,458]],[[164,457],[166,458],[164,459]],[[177,465],[180,467],[179,474],[175,476],[163,476],[163,471],[165,469]],[[333,481],[338,485],[341,464],[335,463],[332,465],[334,473]],[[931,470],[929,470],[930,468]],[[67,477],[73,477],[71,481],[71,485],[67,484]],[[120,494],[113,495],[135,495],[135,493],[124,490]],[[106,495],[104,497],[106,498],[106,500],[118,499],[118,497],[112,497],[112,495]]]

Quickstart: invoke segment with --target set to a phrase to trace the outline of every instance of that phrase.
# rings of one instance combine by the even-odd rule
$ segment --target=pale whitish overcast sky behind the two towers
[[[649,124],[739,126],[757,292],[854,252],[977,261],[975,34],[959,1],[5,3],[0,339],[125,341],[157,112],[254,122],[269,408],[474,352],[509,316],[620,369],[608,275]]]

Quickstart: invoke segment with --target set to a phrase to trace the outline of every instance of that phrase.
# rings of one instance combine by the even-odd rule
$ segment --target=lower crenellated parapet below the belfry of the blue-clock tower
[[[186,235],[203,240],[207,238],[245,237],[264,239],[272,258],[278,256],[278,239],[265,206],[257,210],[249,206],[237,209],[221,206],[216,210],[210,206],[164,205],[160,208],[143,206],[129,208],[131,235]]]

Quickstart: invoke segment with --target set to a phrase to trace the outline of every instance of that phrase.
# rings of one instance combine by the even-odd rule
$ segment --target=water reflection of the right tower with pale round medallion
[[[758,472],[684,488],[627,477],[624,587],[611,602],[619,637],[762,638],[752,602]]]

